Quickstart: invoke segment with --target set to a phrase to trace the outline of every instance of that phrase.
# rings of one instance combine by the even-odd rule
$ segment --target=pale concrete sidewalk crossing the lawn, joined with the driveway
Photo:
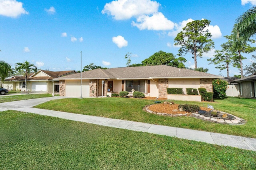
[[[60,98],[64,98],[64,97],[56,96],[51,98],[39,98],[39,99],[22,100],[22,101],[16,101],[16,102],[0,103],[0,111],[10,110],[10,109],[17,110],[17,111],[24,111],[24,112],[36,113],[40,115],[59,117],[62,119],[69,119],[73,121],[93,123],[96,125],[116,127],[121,129],[129,129],[133,131],[155,133],[158,135],[166,135],[170,137],[178,137],[182,139],[188,139],[188,140],[206,142],[210,144],[224,145],[224,146],[256,151],[256,139],[254,138],[33,108],[33,106],[36,106],[38,104],[41,104],[50,100],[60,99]]]

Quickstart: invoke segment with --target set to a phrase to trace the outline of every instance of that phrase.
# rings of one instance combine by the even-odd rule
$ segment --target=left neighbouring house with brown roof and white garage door
[[[35,73],[28,74],[27,86],[28,91],[44,91],[52,93],[59,92],[59,80],[53,80],[61,76],[76,74],[75,70],[71,71],[47,71],[38,70]],[[8,90],[26,91],[25,76],[11,76],[4,80],[3,88]]]

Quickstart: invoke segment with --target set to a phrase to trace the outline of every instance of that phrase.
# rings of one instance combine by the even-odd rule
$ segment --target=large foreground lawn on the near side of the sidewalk
[[[256,167],[256,152],[232,147],[18,111],[0,122],[1,170]]]

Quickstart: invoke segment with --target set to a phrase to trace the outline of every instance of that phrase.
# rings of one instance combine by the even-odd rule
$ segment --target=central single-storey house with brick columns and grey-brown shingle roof
[[[95,69],[55,78],[60,80],[60,96],[82,97],[111,96],[111,93],[132,89],[143,92],[146,96],[167,98],[166,88],[206,88],[212,92],[212,80],[221,78],[214,74],[172,66],[138,66],[109,69]],[[104,80],[102,90],[102,80]]]

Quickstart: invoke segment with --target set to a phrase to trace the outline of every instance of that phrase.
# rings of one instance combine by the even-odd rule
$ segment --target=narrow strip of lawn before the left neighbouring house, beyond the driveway
[[[14,96],[3,95],[3,96],[0,96],[0,103],[12,102],[12,101],[18,101],[18,100],[36,99],[36,98],[46,98],[46,97],[52,97],[52,94],[22,94],[22,95],[14,95]]]

